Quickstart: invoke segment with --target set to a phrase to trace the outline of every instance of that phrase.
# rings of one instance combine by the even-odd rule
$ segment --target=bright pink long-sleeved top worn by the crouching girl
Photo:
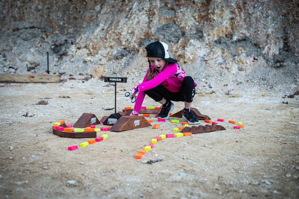
[[[179,92],[182,86],[184,77],[187,76],[186,72],[179,66],[177,63],[172,63],[167,66],[160,72],[154,69],[154,66],[151,65],[151,69],[154,71],[154,78],[152,80],[146,81],[147,73],[144,76],[143,83],[137,85],[139,88],[139,94],[135,102],[134,110],[139,113],[142,102],[145,97],[145,92],[151,88],[162,84],[167,90],[171,92]],[[194,83],[197,86],[196,83]]]

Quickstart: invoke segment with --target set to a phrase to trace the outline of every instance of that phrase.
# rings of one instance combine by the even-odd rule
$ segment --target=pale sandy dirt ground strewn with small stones
[[[74,124],[84,112],[99,119],[114,113],[103,110],[114,107],[114,86],[107,85],[97,79],[0,85],[0,198],[299,197],[299,96],[282,99],[298,87],[228,85],[215,86],[216,94],[199,92],[193,107],[213,121],[224,118],[219,123],[227,129],[163,139],[141,160],[135,159],[139,150],[179,124],[167,120],[156,130],[108,131],[102,142],[68,151],[88,139],[56,136],[52,124]],[[118,84],[117,111],[132,106],[123,91],[132,87]],[[227,89],[234,92],[225,95]],[[45,99],[48,105],[36,105],[45,97],[52,98]],[[158,106],[148,97],[143,105]],[[175,102],[173,113],[181,108]],[[35,115],[22,116],[26,112]],[[229,119],[245,128],[234,130]],[[163,161],[144,164],[158,158]]]

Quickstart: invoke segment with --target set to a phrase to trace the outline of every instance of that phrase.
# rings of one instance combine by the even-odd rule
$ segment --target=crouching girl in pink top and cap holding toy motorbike
[[[171,101],[184,102],[185,107],[182,118],[189,124],[198,124],[199,120],[190,110],[195,86],[192,77],[177,64],[177,60],[170,58],[168,45],[161,41],[155,41],[145,47],[149,68],[143,79],[143,83],[135,86],[131,95],[138,94],[134,110],[130,115],[138,115],[145,94],[156,102],[162,104],[158,118],[168,119],[174,108]]]

